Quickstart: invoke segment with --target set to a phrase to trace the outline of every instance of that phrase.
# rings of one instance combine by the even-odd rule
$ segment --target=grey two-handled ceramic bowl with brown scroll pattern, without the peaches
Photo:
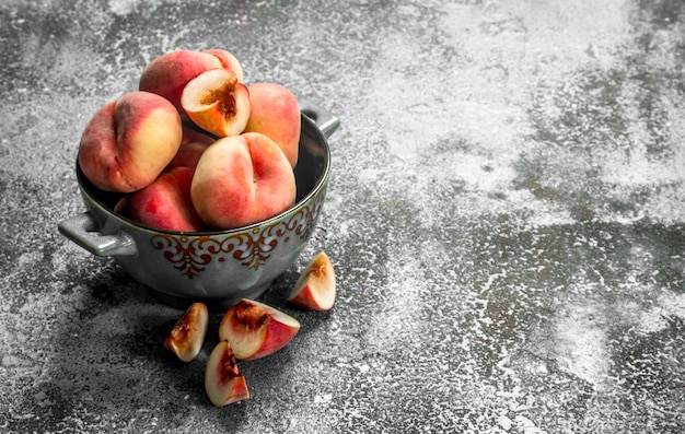
[[[330,172],[328,137],[339,119],[301,102],[302,132],[294,168],[295,204],[272,219],[230,231],[183,233],[140,225],[114,212],[121,195],[94,187],[77,162],[86,211],[58,224],[61,234],[96,256],[112,257],[162,302],[178,308],[204,302],[224,309],[256,298],[300,256],[316,227]]]

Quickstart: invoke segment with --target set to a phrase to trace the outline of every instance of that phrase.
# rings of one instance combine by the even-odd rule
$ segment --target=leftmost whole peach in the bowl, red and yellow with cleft
[[[96,187],[130,192],[151,184],[172,161],[183,130],[178,112],[160,95],[131,92],[103,106],[79,144],[79,165]]]

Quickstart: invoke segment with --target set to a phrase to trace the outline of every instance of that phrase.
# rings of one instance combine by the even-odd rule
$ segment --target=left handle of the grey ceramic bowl
[[[62,235],[93,255],[130,256],[138,253],[133,239],[124,232],[103,235],[95,231],[95,226],[90,211],[63,220],[57,225]]]

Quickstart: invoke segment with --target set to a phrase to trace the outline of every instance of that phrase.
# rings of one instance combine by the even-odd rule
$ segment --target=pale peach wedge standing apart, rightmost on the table
[[[328,310],[335,303],[336,285],[333,262],[325,251],[320,251],[306,266],[288,300],[311,310]]]

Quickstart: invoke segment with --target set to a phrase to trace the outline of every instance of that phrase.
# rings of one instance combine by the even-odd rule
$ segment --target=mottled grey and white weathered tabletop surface
[[[201,4],[205,3],[205,4]],[[0,432],[682,433],[680,0],[0,3]],[[88,119],[176,49],[342,127],[302,322],[212,407],[179,312],[58,234]],[[329,313],[283,304],[325,249]]]

